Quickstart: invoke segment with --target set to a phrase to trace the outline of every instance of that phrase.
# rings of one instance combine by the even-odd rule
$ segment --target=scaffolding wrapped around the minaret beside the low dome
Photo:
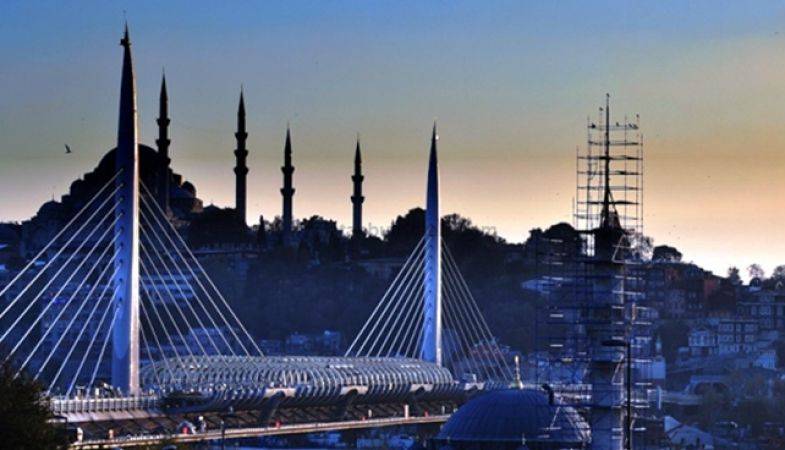
[[[593,449],[632,448],[646,382],[637,376],[651,338],[643,295],[643,136],[639,117],[612,122],[609,96],[587,120],[576,150],[574,240],[548,237],[543,278],[548,299],[538,316],[539,381],[570,392],[586,412]],[[628,433],[629,431],[629,433]]]

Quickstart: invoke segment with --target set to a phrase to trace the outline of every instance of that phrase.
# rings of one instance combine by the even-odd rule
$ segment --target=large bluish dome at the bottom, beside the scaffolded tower
[[[483,394],[453,414],[434,439],[438,448],[582,449],[589,426],[574,408],[539,389]]]

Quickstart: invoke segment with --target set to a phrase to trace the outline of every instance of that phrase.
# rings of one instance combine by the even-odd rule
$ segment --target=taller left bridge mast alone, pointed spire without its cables
[[[131,62],[128,25],[120,41],[123,75],[117,126],[114,298],[112,328],[112,385],[125,394],[139,391],[139,148],[136,123],[136,86]]]

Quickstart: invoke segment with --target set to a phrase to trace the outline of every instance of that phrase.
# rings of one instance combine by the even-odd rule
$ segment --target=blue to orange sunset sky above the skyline
[[[248,221],[280,214],[292,128],[295,215],[351,224],[424,204],[438,120],[442,210],[522,242],[570,221],[575,148],[611,94],[640,114],[644,227],[719,274],[785,264],[785,5],[663,1],[13,1],[0,3],[0,220],[67,192],[114,145],[124,17],[141,142],[165,70],[172,166],[234,204],[248,112]],[[73,149],[65,155],[64,144]]]

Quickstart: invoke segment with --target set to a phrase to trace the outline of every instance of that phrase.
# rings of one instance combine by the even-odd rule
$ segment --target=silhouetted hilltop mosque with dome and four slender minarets
[[[194,222],[204,221],[212,214],[210,220],[215,225],[215,220],[223,221],[219,228],[230,229],[233,236],[240,238],[251,237],[251,229],[246,224],[247,214],[247,187],[248,166],[246,158],[248,149],[246,140],[245,99],[240,92],[237,109],[237,131],[235,156],[235,205],[232,209],[221,210],[215,206],[204,206],[203,201],[197,196],[196,187],[185,180],[182,175],[171,168],[169,156],[169,97],[166,90],[166,77],[161,80],[159,96],[158,137],[155,148],[139,144],[139,173],[142,184],[155,197],[160,208],[166,212],[170,221],[183,234],[188,234],[189,226]],[[51,200],[44,203],[38,212],[19,227],[19,254],[29,257],[44,247],[57,232],[73,217],[90,198],[104,186],[115,173],[115,149],[109,150],[101,159],[98,166],[82,178],[71,183],[68,193],[60,201]],[[283,186],[281,188],[282,211],[280,229],[276,230],[279,236],[276,240],[286,245],[295,243],[296,222],[293,215],[294,209],[294,165],[292,163],[291,130],[287,127],[284,143],[284,163],[281,167]],[[363,236],[362,230],[362,205],[365,197],[362,193],[362,158],[360,142],[354,157],[354,174],[351,176],[353,191],[350,197],[352,203],[352,238]],[[216,219],[217,218],[217,219]],[[263,218],[260,217],[263,226]],[[226,223],[229,222],[229,223]]]

